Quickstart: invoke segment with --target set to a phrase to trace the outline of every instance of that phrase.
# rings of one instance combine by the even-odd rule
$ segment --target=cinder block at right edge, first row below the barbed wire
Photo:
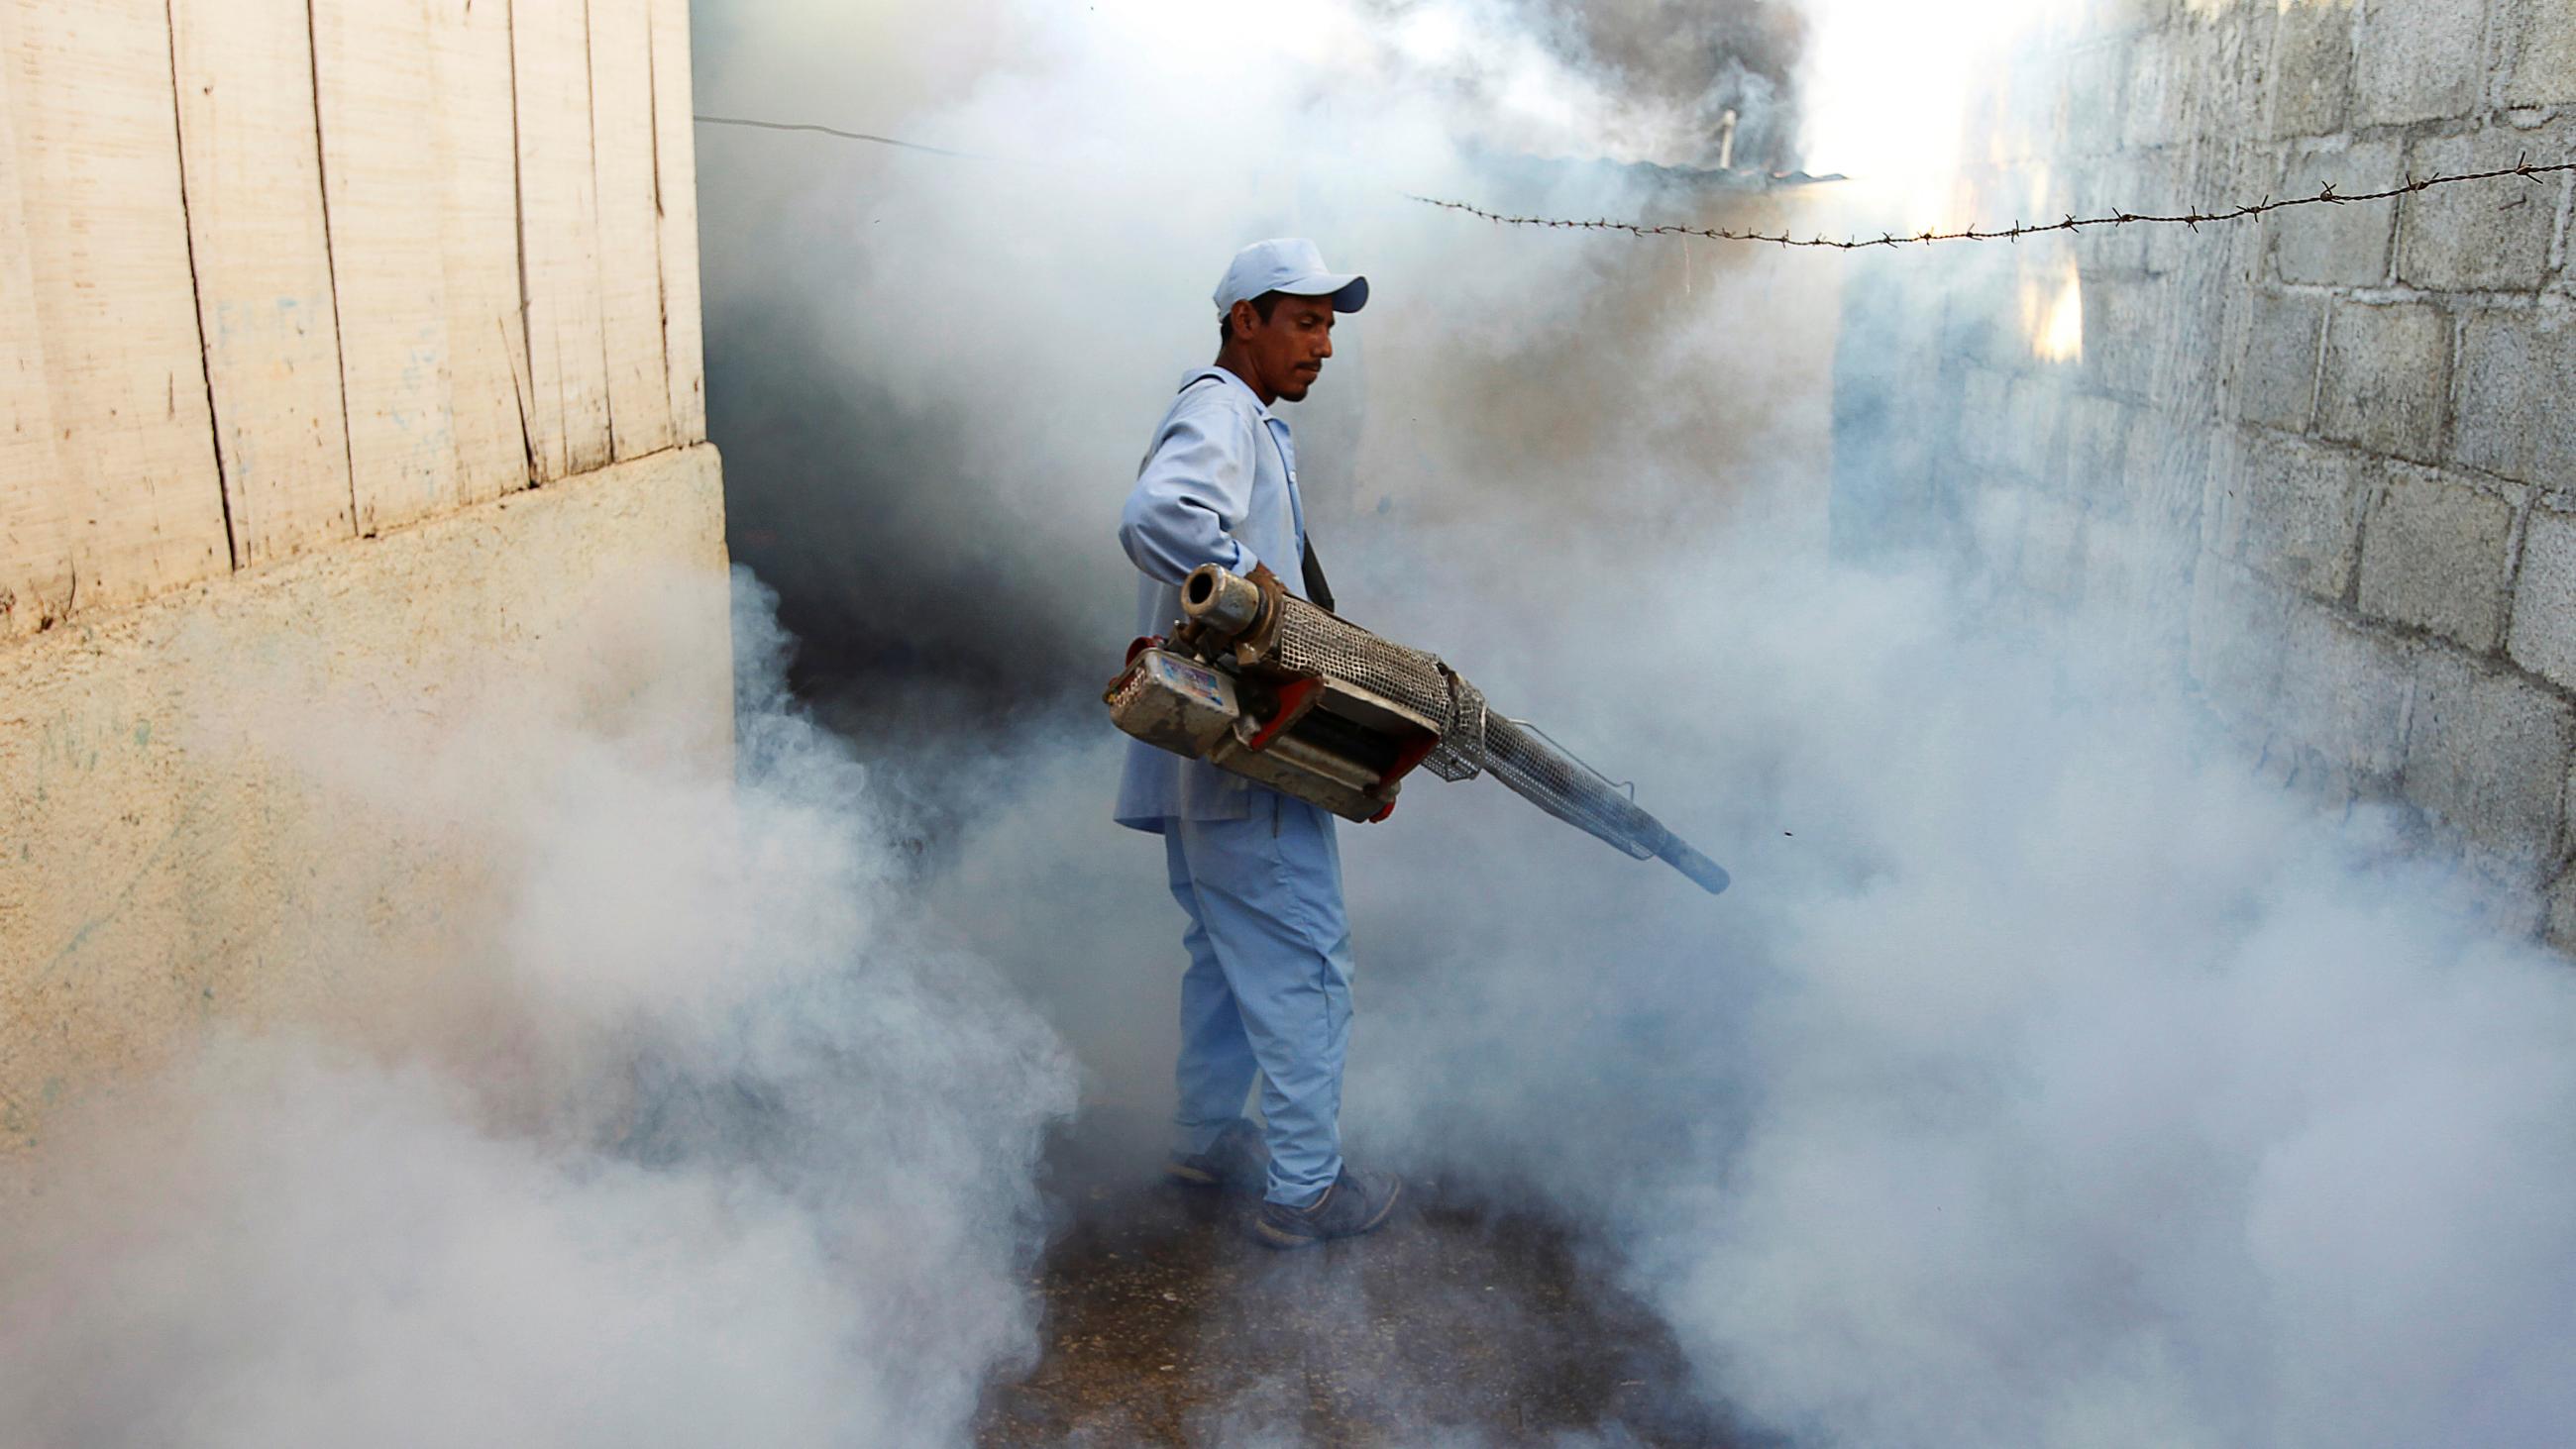
[[[2460,342],[2452,458],[2524,484],[2576,484],[2576,309],[2481,311]]]

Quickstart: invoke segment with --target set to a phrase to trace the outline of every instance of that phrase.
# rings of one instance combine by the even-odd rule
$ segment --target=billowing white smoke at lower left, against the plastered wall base
[[[613,723],[585,659],[706,613],[657,579],[430,736],[291,674],[193,749],[294,762],[343,839],[286,932],[335,1009],[232,1024],[8,1163],[0,1421],[28,1444],[951,1444],[1028,1351],[1061,1045],[907,919],[848,749],[737,615],[742,772]],[[283,649],[291,654],[291,649]],[[430,679],[394,679],[428,687]],[[350,860],[355,857],[355,862]],[[415,860],[474,888],[379,950]]]

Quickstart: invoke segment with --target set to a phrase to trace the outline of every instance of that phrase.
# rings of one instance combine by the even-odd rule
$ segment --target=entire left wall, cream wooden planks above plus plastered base
[[[0,1143],[363,975],[301,916],[384,844],[219,728],[281,659],[729,749],[721,587],[639,587],[724,574],[688,95],[685,0],[0,0]],[[389,932],[474,888],[376,865]]]

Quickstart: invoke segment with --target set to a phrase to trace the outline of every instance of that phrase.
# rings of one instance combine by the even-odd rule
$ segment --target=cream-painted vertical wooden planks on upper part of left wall
[[[706,435],[685,0],[0,0],[0,638]]]

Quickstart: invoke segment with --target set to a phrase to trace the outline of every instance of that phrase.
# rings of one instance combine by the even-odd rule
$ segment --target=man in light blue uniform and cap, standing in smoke
[[[1200,564],[1332,607],[1306,556],[1306,504],[1288,425],[1332,358],[1332,317],[1368,301],[1368,278],[1324,268],[1314,242],[1255,242],[1216,283],[1216,363],[1180,383],[1118,525],[1144,571],[1139,633],[1180,618]],[[1255,1235],[1273,1248],[1376,1230],[1404,1184],[1342,1163],[1342,1055],[1350,1048],[1350,919],[1334,821],[1242,775],[1128,744],[1118,824],[1164,844],[1188,916],[1180,978],[1180,1109],[1170,1176],[1262,1189]],[[1244,1120],[1262,1081],[1262,1130]]]

